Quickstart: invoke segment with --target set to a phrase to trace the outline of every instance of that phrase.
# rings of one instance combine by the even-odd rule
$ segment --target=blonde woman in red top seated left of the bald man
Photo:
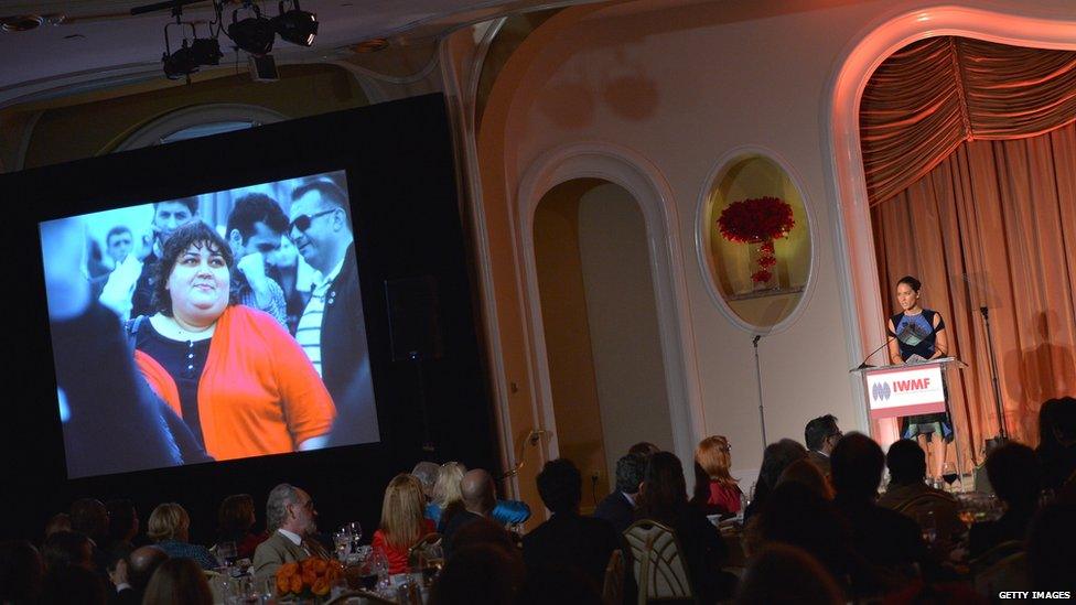
[[[388,572],[407,571],[408,551],[426,534],[432,533],[433,522],[423,517],[426,496],[422,482],[415,475],[401,473],[388,483],[381,501],[381,525],[374,532],[373,547],[388,559]]]

